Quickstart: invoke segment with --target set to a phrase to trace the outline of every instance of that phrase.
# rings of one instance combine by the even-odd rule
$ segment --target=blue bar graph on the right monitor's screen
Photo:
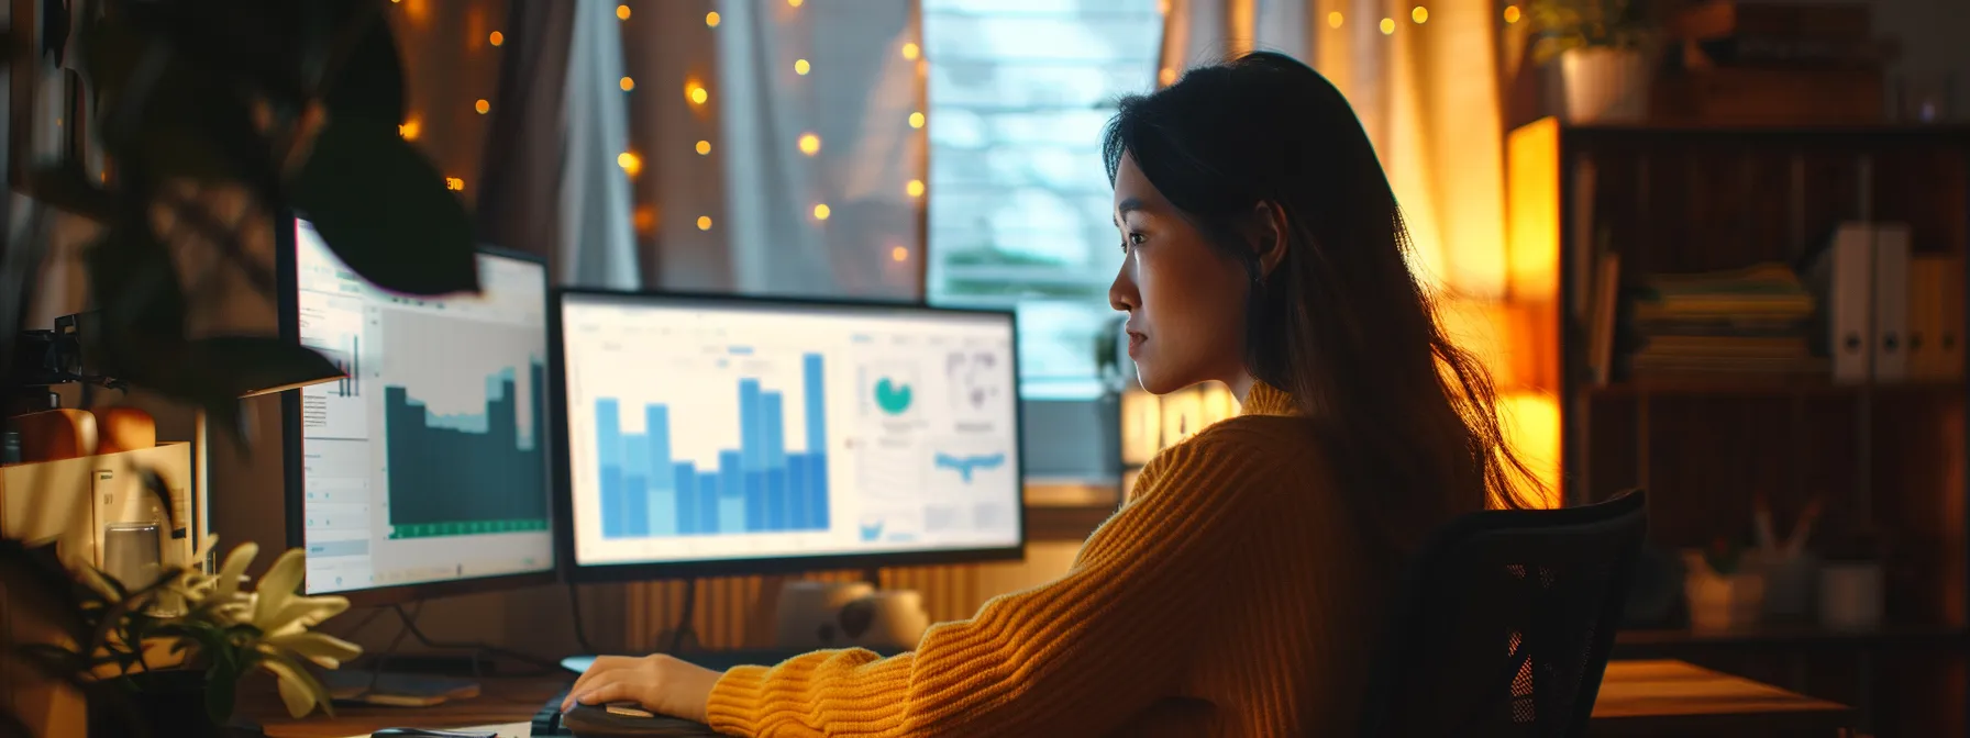
[[[821,354],[802,356],[806,427],[788,453],[788,392],[758,378],[737,388],[737,447],[676,459],[670,405],[642,407],[644,431],[623,431],[615,398],[595,400],[595,462],[603,537],[731,535],[827,529],[827,417]],[[634,415],[630,415],[634,417]],[[686,431],[688,433],[688,431]]]

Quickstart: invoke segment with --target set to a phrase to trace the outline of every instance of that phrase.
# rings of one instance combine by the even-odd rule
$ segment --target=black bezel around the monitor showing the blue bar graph
[[[575,518],[573,518],[573,461],[567,449],[567,346],[561,340],[561,309],[567,297],[603,297],[617,301],[688,301],[699,305],[753,305],[753,307],[816,307],[816,309],[869,309],[883,313],[918,315],[995,315],[1005,317],[1011,327],[1013,378],[1018,380],[1018,317],[1011,309],[942,307],[920,301],[881,301],[881,299],[831,299],[831,297],[780,297],[780,295],[733,295],[676,289],[599,289],[599,287],[556,287],[548,297],[548,386],[554,394],[550,403],[554,427],[563,429],[554,437],[554,525],[556,551],[561,577],[577,584],[632,583],[662,579],[701,579],[701,577],[756,577],[756,575],[798,575],[810,571],[869,571],[888,567],[940,567],[991,561],[1022,561],[1026,557],[1026,449],[1024,403],[1018,392],[1013,394],[1013,472],[1018,478],[1018,537],[1013,545],[981,549],[938,549],[938,551],[883,551],[883,553],[831,553],[804,557],[756,557],[756,559],[709,559],[709,561],[640,561],[640,563],[591,563],[575,559]]]

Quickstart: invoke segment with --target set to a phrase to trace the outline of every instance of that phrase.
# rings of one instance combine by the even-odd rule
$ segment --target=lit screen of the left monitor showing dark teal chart
[[[546,266],[481,252],[477,295],[404,297],[294,242],[301,344],[349,374],[299,390],[307,592],[552,571]]]

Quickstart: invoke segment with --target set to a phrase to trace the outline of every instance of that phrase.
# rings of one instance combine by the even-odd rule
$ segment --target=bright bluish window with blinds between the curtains
[[[1156,81],[1156,0],[922,2],[928,297],[1015,307],[1020,392],[1089,400],[1119,266],[1101,128]]]

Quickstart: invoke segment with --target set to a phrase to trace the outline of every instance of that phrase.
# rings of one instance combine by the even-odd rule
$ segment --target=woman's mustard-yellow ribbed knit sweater
[[[1351,734],[1383,573],[1310,423],[1255,386],[1158,455],[1058,581],[930,628],[916,651],[727,671],[739,736]]]

